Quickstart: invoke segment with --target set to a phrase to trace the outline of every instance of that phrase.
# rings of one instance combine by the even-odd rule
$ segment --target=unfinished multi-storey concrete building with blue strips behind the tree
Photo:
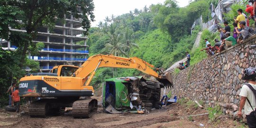
[[[81,66],[86,61],[89,52],[85,36],[82,36],[81,18],[74,18],[73,15],[65,15],[65,21],[55,18],[55,27],[38,27],[37,37],[33,42],[43,42],[45,47],[39,51],[39,55],[29,54],[28,57],[40,63],[43,72],[50,72],[53,66],[69,64]],[[26,32],[26,29],[12,29],[12,31]],[[17,48],[10,42],[1,41],[3,47]],[[29,70],[29,69],[26,69]]]

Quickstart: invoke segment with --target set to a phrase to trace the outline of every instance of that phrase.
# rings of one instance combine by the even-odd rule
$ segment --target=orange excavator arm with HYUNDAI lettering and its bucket
[[[159,82],[163,82],[166,86],[173,85],[170,73],[164,74],[160,69],[155,68],[153,65],[137,57],[124,58],[114,55],[93,55],[82,64],[82,66],[73,74],[73,76],[82,78],[82,82],[88,86],[99,67],[137,69],[143,73],[155,77]],[[155,68],[155,71],[152,68]]]

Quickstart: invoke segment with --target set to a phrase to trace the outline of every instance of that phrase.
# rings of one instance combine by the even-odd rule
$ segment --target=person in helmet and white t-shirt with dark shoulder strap
[[[245,108],[247,125],[256,128],[256,68],[247,68],[243,74],[243,80],[248,83],[242,86],[240,92],[240,104],[238,117],[242,117],[242,109]]]

